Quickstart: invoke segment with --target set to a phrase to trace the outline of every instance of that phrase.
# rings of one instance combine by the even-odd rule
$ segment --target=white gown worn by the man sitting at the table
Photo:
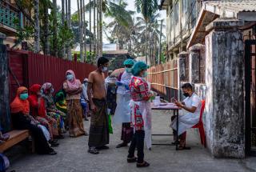
[[[186,110],[183,111],[183,114],[178,116],[178,135],[184,133],[187,129],[190,129],[192,126],[198,124],[200,118],[200,111],[202,107],[202,99],[198,97],[197,94],[192,94],[191,97],[187,97],[183,102],[187,107],[197,107],[194,113],[190,113]],[[176,118],[171,123],[171,127],[176,130]]]

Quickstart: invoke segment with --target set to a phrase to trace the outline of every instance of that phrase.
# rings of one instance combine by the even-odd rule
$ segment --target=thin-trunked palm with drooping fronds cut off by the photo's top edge
[[[146,21],[146,42],[147,42],[147,38],[148,38],[147,24],[151,16],[153,16],[154,12],[158,10],[158,0],[135,0],[135,6],[137,8],[138,13],[142,13],[143,18]],[[147,47],[148,47],[148,44],[145,45],[146,62],[148,58]]]

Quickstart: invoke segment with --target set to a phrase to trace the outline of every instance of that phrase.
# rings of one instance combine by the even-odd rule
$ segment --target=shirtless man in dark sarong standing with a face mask
[[[109,126],[106,105],[105,75],[109,60],[98,58],[98,69],[89,74],[87,94],[93,114],[90,118],[89,150],[98,154],[98,150],[109,149]]]

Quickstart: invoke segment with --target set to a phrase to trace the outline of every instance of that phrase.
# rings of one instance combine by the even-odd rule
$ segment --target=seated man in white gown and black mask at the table
[[[179,149],[187,150],[190,149],[190,147],[186,147],[186,130],[198,124],[202,102],[201,98],[194,93],[190,83],[186,83],[182,86],[182,92],[186,98],[183,102],[175,101],[175,104],[184,110],[184,113],[178,117]],[[171,124],[174,130],[177,129],[176,120],[177,118],[174,118]]]

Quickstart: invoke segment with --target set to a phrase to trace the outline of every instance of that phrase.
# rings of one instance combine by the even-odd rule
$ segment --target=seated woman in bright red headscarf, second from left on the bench
[[[54,118],[51,118],[46,114],[45,101],[41,96],[41,87],[38,84],[34,84],[30,87],[30,96],[28,98],[30,102],[30,110],[32,116],[38,120],[43,126],[50,132],[50,144],[52,146],[58,146],[57,140],[54,137],[58,137],[58,125]]]

